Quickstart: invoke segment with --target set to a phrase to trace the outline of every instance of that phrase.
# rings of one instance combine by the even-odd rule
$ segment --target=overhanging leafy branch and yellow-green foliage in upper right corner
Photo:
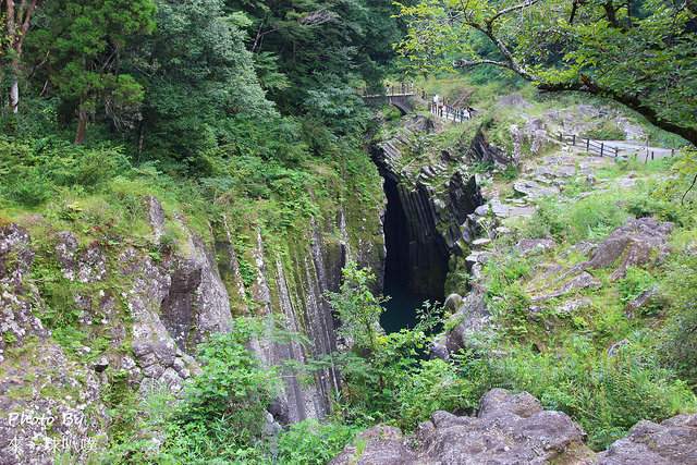
[[[425,0],[402,7],[417,68],[493,65],[617,101],[697,145],[697,7],[664,0]]]

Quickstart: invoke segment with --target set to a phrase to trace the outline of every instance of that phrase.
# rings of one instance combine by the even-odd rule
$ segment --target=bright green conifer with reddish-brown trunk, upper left
[[[87,115],[103,103],[112,115],[134,112],[143,101],[143,86],[123,72],[123,60],[139,36],[155,30],[150,0],[53,0],[48,2],[47,27],[33,45],[46,50],[49,79],[62,99],[77,107],[75,144],[85,140]]]

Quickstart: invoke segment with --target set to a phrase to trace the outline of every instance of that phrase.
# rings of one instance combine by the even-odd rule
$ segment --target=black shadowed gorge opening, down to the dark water
[[[384,193],[388,200],[383,225],[387,257],[382,294],[390,299],[383,304],[380,325],[386,332],[392,333],[414,328],[418,322],[417,309],[426,301],[431,304],[442,302],[448,257],[441,257],[432,234],[417,236],[418,231],[424,230],[412,224],[409,218],[418,216],[414,211],[407,215],[398,182],[390,176],[384,176]]]

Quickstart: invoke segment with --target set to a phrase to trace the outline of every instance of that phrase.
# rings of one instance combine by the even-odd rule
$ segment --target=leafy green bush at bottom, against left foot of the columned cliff
[[[191,463],[259,457],[265,408],[281,379],[278,367],[261,366],[247,344],[267,328],[265,321],[237,318],[231,332],[213,334],[203,345],[203,374],[186,387],[159,458]]]

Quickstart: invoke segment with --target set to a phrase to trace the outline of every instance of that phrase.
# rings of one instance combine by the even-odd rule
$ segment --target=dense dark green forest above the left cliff
[[[0,0],[0,123],[189,168],[253,122],[284,127],[279,115],[315,146],[359,127],[353,87],[391,65],[396,11],[384,0]]]

